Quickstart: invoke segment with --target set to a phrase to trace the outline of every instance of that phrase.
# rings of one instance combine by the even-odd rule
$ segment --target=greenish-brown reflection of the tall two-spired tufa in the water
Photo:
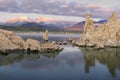
[[[120,69],[120,49],[106,48],[103,50],[93,50],[91,48],[80,48],[85,60],[85,72],[89,73],[90,67],[95,66],[96,60],[108,67],[113,77],[116,70]]]

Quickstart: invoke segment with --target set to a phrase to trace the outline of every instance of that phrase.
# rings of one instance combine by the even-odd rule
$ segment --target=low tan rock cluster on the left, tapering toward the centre
[[[12,31],[0,29],[0,53],[6,53],[12,50],[25,50],[25,51],[40,51],[51,49],[53,51],[60,51],[58,45],[54,43],[43,43],[34,39],[27,39],[24,41],[20,36],[16,36]]]

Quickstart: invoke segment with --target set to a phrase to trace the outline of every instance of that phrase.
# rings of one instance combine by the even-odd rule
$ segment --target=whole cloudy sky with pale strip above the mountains
[[[0,0],[0,21],[20,16],[63,20],[108,19],[113,11],[120,17],[120,0]]]

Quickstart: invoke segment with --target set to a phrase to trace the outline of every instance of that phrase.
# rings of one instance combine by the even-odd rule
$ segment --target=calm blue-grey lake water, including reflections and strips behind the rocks
[[[42,42],[42,34],[17,34]],[[50,40],[67,40],[74,34],[50,34]],[[0,55],[0,80],[120,80],[120,49],[93,50],[62,45],[51,54]]]

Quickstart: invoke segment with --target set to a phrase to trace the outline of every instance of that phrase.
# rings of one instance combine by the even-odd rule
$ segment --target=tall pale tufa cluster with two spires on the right
[[[120,19],[113,12],[108,22],[95,28],[90,14],[86,15],[84,32],[76,42],[78,46],[95,47],[120,47]]]

